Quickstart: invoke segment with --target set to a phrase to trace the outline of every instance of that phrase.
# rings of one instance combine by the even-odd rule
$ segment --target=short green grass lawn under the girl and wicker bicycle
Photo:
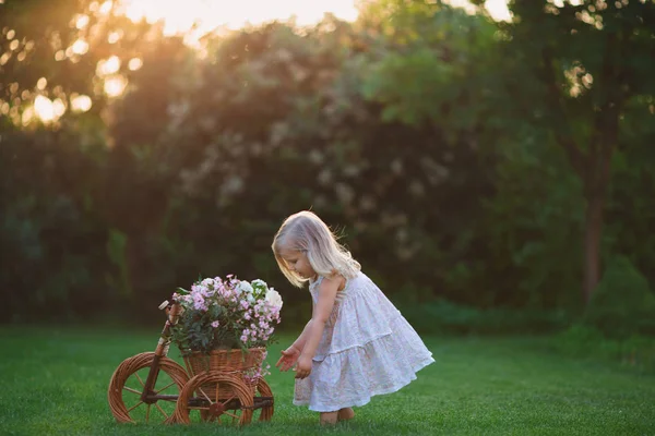
[[[270,423],[117,424],[107,385],[118,364],[153,351],[159,330],[0,327],[0,434],[9,435],[655,435],[655,376],[548,351],[544,338],[426,338],[437,362],[401,391],[324,429],[291,404],[293,374],[267,376]],[[282,346],[270,350],[273,363]],[[170,356],[179,360],[171,348]]]

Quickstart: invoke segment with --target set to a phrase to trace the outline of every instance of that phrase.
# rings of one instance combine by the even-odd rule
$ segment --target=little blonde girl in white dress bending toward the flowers
[[[288,217],[272,249],[293,284],[309,281],[313,300],[311,319],[276,366],[296,366],[294,404],[320,412],[321,424],[352,419],[354,405],[401,389],[434,362],[407,320],[313,213]]]

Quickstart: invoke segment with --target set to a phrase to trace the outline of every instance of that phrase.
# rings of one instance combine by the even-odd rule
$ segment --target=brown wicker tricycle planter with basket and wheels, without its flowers
[[[260,421],[273,416],[273,393],[261,376],[263,348],[215,350],[184,355],[187,370],[167,358],[171,326],[181,313],[178,303],[163,302],[167,319],[155,352],[126,359],[114,372],[107,399],[116,421],[167,424],[216,422],[245,425],[259,410]]]

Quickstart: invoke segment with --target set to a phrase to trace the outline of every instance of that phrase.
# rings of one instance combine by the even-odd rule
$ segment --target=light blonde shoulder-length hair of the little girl
[[[271,247],[282,272],[298,288],[309,279],[289,269],[279,255],[282,247],[305,253],[312,269],[319,276],[330,277],[338,274],[346,279],[352,279],[361,269],[350,252],[337,242],[325,222],[309,210],[299,211],[285,219]]]

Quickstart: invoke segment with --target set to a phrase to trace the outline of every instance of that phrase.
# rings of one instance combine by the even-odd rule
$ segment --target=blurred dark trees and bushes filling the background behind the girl
[[[441,2],[380,0],[355,23],[269,23],[207,35],[198,51],[158,25],[94,15],[91,1],[4,1],[3,320],[150,323],[176,287],[236,274],[274,286],[283,325],[297,327],[309,299],[284,281],[270,244],[308,208],[419,330],[544,332],[597,319],[582,293],[590,196],[559,142],[570,135],[593,157],[586,140],[609,136],[590,120],[614,110],[612,90],[622,94],[599,257],[604,269],[620,257],[628,272],[612,277],[628,281],[604,293],[640,306],[655,284],[655,57],[644,56],[655,7],[576,3],[516,0],[521,20],[495,23]],[[83,13],[90,24],[71,26]],[[621,50],[605,46],[611,35],[624,37]],[[79,38],[88,50],[67,50]],[[111,75],[128,81],[114,98],[97,66],[111,56],[121,60]],[[142,66],[129,69],[132,58]],[[72,109],[81,94],[87,111]],[[31,119],[36,95],[68,110]],[[624,336],[652,332],[636,323]]]

